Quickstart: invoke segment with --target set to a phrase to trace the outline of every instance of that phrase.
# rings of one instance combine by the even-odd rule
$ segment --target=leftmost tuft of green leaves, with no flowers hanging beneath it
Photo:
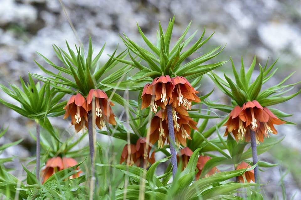
[[[65,93],[59,92],[55,88],[50,89],[50,82],[45,82],[41,87],[40,82],[34,83],[30,74],[28,77],[29,82],[26,84],[20,76],[23,91],[14,84],[10,84],[12,90],[0,84],[0,88],[3,92],[18,101],[21,107],[8,103],[2,98],[0,98],[0,103],[24,117],[28,117],[40,123],[55,139],[59,140],[59,138],[55,136],[54,129],[48,117],[60,116],[64,113],[63,107],[66,105],[66,101],[60,101],[65,96]]]

